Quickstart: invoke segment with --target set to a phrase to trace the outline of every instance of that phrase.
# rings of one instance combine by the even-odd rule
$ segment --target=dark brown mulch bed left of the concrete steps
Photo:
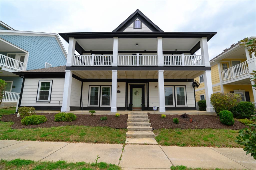
[[[20,120],[21,117],[17,117],[17,114],[3,115],[1,116],[1,121],[14,122],[12,125],[13,129],[22,128],[42,128],[42,127],[55,127],[55,126],[66,126],[66,125],[83,125],[83,126],[107,126],[111,128],[126,128],[128,115],[120,115],[120,117],[115,117],[115,115],[76,115],[77,119],[72,122],[55,122],[54,115],[56,113],[37,113],[38,115],[45,115],[48,119],[45,123],[38,125],[22,125]],[[100,120],[101,117],[108,117],[107,120]]]

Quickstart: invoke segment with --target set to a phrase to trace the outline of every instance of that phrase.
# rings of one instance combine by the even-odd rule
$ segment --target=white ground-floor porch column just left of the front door
[[[117,98],[117,70],[112,70],[112,90],[111,90],[111,112],[117,112],[116,98]]]

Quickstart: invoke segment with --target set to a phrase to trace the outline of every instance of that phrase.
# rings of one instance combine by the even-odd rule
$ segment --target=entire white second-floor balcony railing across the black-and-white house
[[[205,66],[202,55],[163,55],[164,66]],[[113,55],[73,55],[72,66],[112,66]],[[117,66],[159,66],[158,55],[117,56]]]

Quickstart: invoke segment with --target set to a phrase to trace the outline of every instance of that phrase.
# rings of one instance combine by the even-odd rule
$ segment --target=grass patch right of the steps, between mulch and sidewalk
[[[239,130],[230,129],[157,129],[156,141],[160,145],[236,147]]]

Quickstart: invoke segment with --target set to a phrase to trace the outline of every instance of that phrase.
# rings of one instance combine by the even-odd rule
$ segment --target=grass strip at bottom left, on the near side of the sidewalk
[[[66,161],[42,161],[36,162],[31,160],[22,160],[15,159],[11,161],[1,160],[0,169],[79,169],[79,170],[93,170],[93,169],[108,169],[108,170],[120,170],[121,168],[117,165],[107,164],[105,162],[95,163],[85,163],[85,162],[76,162],[76,163],[67,163]]]

